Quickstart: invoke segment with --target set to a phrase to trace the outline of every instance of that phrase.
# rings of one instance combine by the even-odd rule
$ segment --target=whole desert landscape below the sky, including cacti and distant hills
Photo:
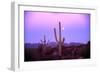
[[[24,61],[87,59],[90,58],[90,41],[87,43],[65,43],[62,37],[61,23],[59,29],[54,28],[54,42],[47,40],[46,36],[39,43],[24,44]]]

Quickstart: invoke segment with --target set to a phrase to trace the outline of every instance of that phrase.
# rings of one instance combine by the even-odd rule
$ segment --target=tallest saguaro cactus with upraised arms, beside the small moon
[[[59,22],[59,33],[58,33],[58,36],[57,37],[57,33],[56,33],[56,28],[54,28],[54,36],[55,36],[55,40],[58,44],[58,49],[59,49],[59,56],[62,56],[62,44],[64,43],[65,41],[65,38],[62,38],[62,35],[61,35],[61,23]]]

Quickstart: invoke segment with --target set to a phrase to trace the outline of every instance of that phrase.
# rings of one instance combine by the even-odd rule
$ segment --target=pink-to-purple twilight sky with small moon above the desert
[[[90,40],[90,14],[24,11],[25,43],[38,43],[44,35],[50,42],[55,42],[53,29],[58,32],[59,21],[65,42],[86,43]]]

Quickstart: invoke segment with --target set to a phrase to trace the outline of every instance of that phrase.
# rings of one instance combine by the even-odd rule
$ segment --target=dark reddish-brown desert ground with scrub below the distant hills
[[[62,55],[59,56],[58,47],[48,46],[43,50],[42,45],[38,48],[25,47],[24,61],[47,61],[47,60],[68,60],[68,59],[89,59],[90,42],[81,45],[62,46]]]

